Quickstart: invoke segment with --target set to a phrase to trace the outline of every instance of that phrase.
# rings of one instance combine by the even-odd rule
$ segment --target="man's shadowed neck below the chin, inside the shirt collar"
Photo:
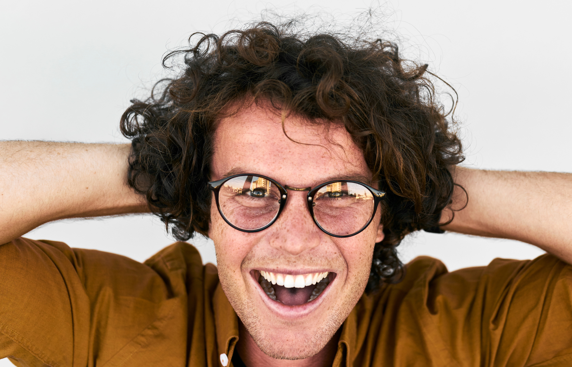
[[[320,352],[303,360],[277,360],[269,357],[258,348],[243,323],[239,320],[239,341],[235,350],[247,367],[331,367],[336,357],[337,341],[341,327]]]

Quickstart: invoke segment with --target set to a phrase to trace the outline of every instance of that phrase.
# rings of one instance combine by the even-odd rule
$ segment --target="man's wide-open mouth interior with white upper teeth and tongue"
[[[328,271],[299,275],[272,273],[264,270],[255,270],[253,273],[269,298],[287,306],[312,302],[336,277],[336,273]]]

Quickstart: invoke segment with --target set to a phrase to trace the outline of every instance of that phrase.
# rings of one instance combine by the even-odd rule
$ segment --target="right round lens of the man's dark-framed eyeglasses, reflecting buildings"
[[[339,236],[350,235],[367,224],[374,203],[374,195],[367,187],[337,181],[319,188],[313,198],[313,212],[324,230]]]

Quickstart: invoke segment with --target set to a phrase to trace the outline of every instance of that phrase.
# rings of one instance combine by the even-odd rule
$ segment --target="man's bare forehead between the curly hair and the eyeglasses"
[[[316,122],[291,116],[283,130],[280,115],[256,105],[222,119],[215,134],[211,179],[259,173],[299,187],[336,178],[369,181],[363,153],[345,128]]]

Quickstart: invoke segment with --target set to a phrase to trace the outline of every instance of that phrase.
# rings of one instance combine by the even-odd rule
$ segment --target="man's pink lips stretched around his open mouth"
[[[285,269],[273,269],[273,270],[252,269],[252,270],[272,271],[273,273],[283,273],[283,274],[291,274],[291,275],[301,275],[301,274],[308,274],[308,273],[321,273],[321,271],[329,271],[329,270],[321,270],[321,271],[310,270],[310,271],[308,271],[308,270],[291,270],[291,269],[288,269],[288,270],[285,270]],[[330,271],[330,273],[333,273],[333,272]],[[280,317],[283,319],[303,318],[303,317],[311,314],[318,307],[320,307],[320,305],[324,302],[326,295],[328,295],[329,290],[331,289],[330,286],[337,279],[337,274],[336,274],[336,277],[333,278],[333,280],[331,280],[329,282],[328,286],[325,287],[325,289],[320,293],[320,295],[318,297],[316,297],[315,299],[313,299],[313,301],[303,303],[302,305],[287,306],[287,305],[284,305],[284,303],[274,301],[273,299],[268,297],[268,295],[264,292],[264,290],[260,286],[260,283],[254,279],[254,277],[252,276],[252,273],[250,271],[248,272],[248,275],[249,275],[249,278],[251,279],[251,282],[253,283],[253,286],[258,291],[260,298],[262,299],[264,304],[268,307],[268,309],[273,314],[275,314],[277,317]]]

